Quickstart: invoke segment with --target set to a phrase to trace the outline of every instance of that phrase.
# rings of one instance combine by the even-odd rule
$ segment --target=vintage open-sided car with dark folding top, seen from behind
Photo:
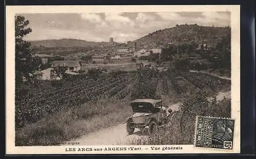
[[[133,134],[135,128],[143,130],[148,127],[148,134],[154,135],[158,127],[167,125],[167,111],[162,100],[136,99],[131,102],[133,115],[125,120],[126,131]],[[168,109],[169,115],[172,109]]]

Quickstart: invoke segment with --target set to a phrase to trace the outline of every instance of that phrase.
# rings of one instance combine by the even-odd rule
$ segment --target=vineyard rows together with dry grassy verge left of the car
[[[218,87],[212,86],[214,83]],[[197,73],[182,73],[177,78],[141,66],[137,72],[112,73],[98,79],[76,76],[24,85],[16,89],[15,144],[58,145],[122,122],[132,113],[133,99],[162,98],[169,105],[206,88],[208,94],[216,94],[230,89],[230,83]],[[182,120],[187,121],[187,117]]]

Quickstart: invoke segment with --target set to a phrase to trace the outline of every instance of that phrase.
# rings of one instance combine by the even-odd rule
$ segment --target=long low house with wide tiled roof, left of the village
[[[81,70],[81,62],[79,61],[53,61],[52,67],[54,66],[68,66],[68,71],[74,71],[77,72]]]

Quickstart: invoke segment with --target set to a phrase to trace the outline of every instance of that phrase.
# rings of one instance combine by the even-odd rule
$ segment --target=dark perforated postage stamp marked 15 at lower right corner
[[[197,117],[196,147],[233,148],[234,120]]]

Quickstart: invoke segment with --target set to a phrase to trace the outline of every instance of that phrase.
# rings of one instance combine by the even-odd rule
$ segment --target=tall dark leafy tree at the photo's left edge
[[[29,20],[23,16],[15,16],[15,81],[16,84],[23,82],[23,79],[29,79],[29,74],[33,74],[38,69],[41,61],[32,54],[31,44],[23,38],[32,32],[28,28]]]

